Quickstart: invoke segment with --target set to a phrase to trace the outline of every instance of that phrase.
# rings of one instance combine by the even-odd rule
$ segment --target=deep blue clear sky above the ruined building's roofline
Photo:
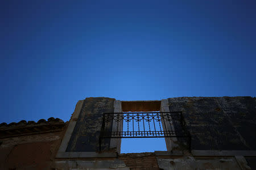
[[[77,100],[256,96],[256,1],[1,1],[1,122]]]

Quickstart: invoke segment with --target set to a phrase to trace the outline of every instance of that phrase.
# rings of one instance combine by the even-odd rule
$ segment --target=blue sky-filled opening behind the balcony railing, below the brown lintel
[[[123,138],[121,154],[167,151],[159,111],[151,113],[123,112],[123,117],[123,130],[127,130],[123,135],[127,137],[132,135],[138,138]],[[134,118],[132,119],[132,117]]]

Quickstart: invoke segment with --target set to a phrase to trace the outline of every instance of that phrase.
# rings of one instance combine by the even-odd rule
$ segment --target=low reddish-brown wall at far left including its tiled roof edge
[[[0,169],[51,169],[65,133],[59,118],[0,124]]]

